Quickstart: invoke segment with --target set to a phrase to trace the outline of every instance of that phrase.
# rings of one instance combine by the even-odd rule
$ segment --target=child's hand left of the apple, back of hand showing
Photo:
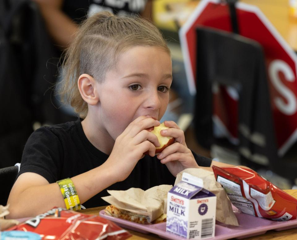
[[[130,175],[145,152],[149,151],[150,156],[155,156],[156,147],[160,146],[158,138],[145,129],[159,125],[160,122],[150,116],[140,116],[117,137],[112,152],[104,163],[117,176],[117,181],[123,181]]]

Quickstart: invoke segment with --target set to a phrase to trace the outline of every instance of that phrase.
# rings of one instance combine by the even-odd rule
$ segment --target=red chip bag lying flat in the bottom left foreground
[[[34,232],[51,240],[122,240],[132,236],[112,221],[63,208],[53,208],[8,230]]]

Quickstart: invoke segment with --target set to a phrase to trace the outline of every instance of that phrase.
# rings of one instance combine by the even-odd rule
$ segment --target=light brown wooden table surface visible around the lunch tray
[[[297,198],[297,190],[284,190],[285,192],[289,193],[291,196],[294,196]],[[82,213],[87,213],[87,214],[99,214],[99,212],[104,209],[105,207],[97,207],[97,208],[88,208],[88,209],[83,209],[80,210]],[[133,236],[129,239],[134,240],[134,239],[151,239],[151,240],[159,240],[162,239],[159,236],[155,234],[142,234],[136,231],[129,230]],[[295,229],[289,229],[289,230],[284,230],[284,231],[267,231],[265,234],[256,236],[256,237],[251,237],[251,238],[243,238],[244,240],[294,240],[297,239],[297,228]]]

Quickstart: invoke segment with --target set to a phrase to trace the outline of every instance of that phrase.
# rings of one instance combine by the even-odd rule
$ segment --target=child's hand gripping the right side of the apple
[[[165,163],[174,176],[186,168],[199,167],[191,150],[186,145],[183,130],[174,121],[165,121],[164,124],[169,128],[162,130],[161,135],[174,137],[176,142],[157,155],[161,163]]]

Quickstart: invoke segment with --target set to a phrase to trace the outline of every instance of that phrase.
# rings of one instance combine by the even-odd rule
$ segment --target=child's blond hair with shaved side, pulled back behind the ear
[[[63,79],[58,90],[63,102],[70,103],[85,118],[88,106],[77,86],[79,76],[89,74],[99,83],[104,82],[119,55],[133,46],[160,47],[170,54],[160,31],[145,19],[101,12],[85,20],[64,53]]]

